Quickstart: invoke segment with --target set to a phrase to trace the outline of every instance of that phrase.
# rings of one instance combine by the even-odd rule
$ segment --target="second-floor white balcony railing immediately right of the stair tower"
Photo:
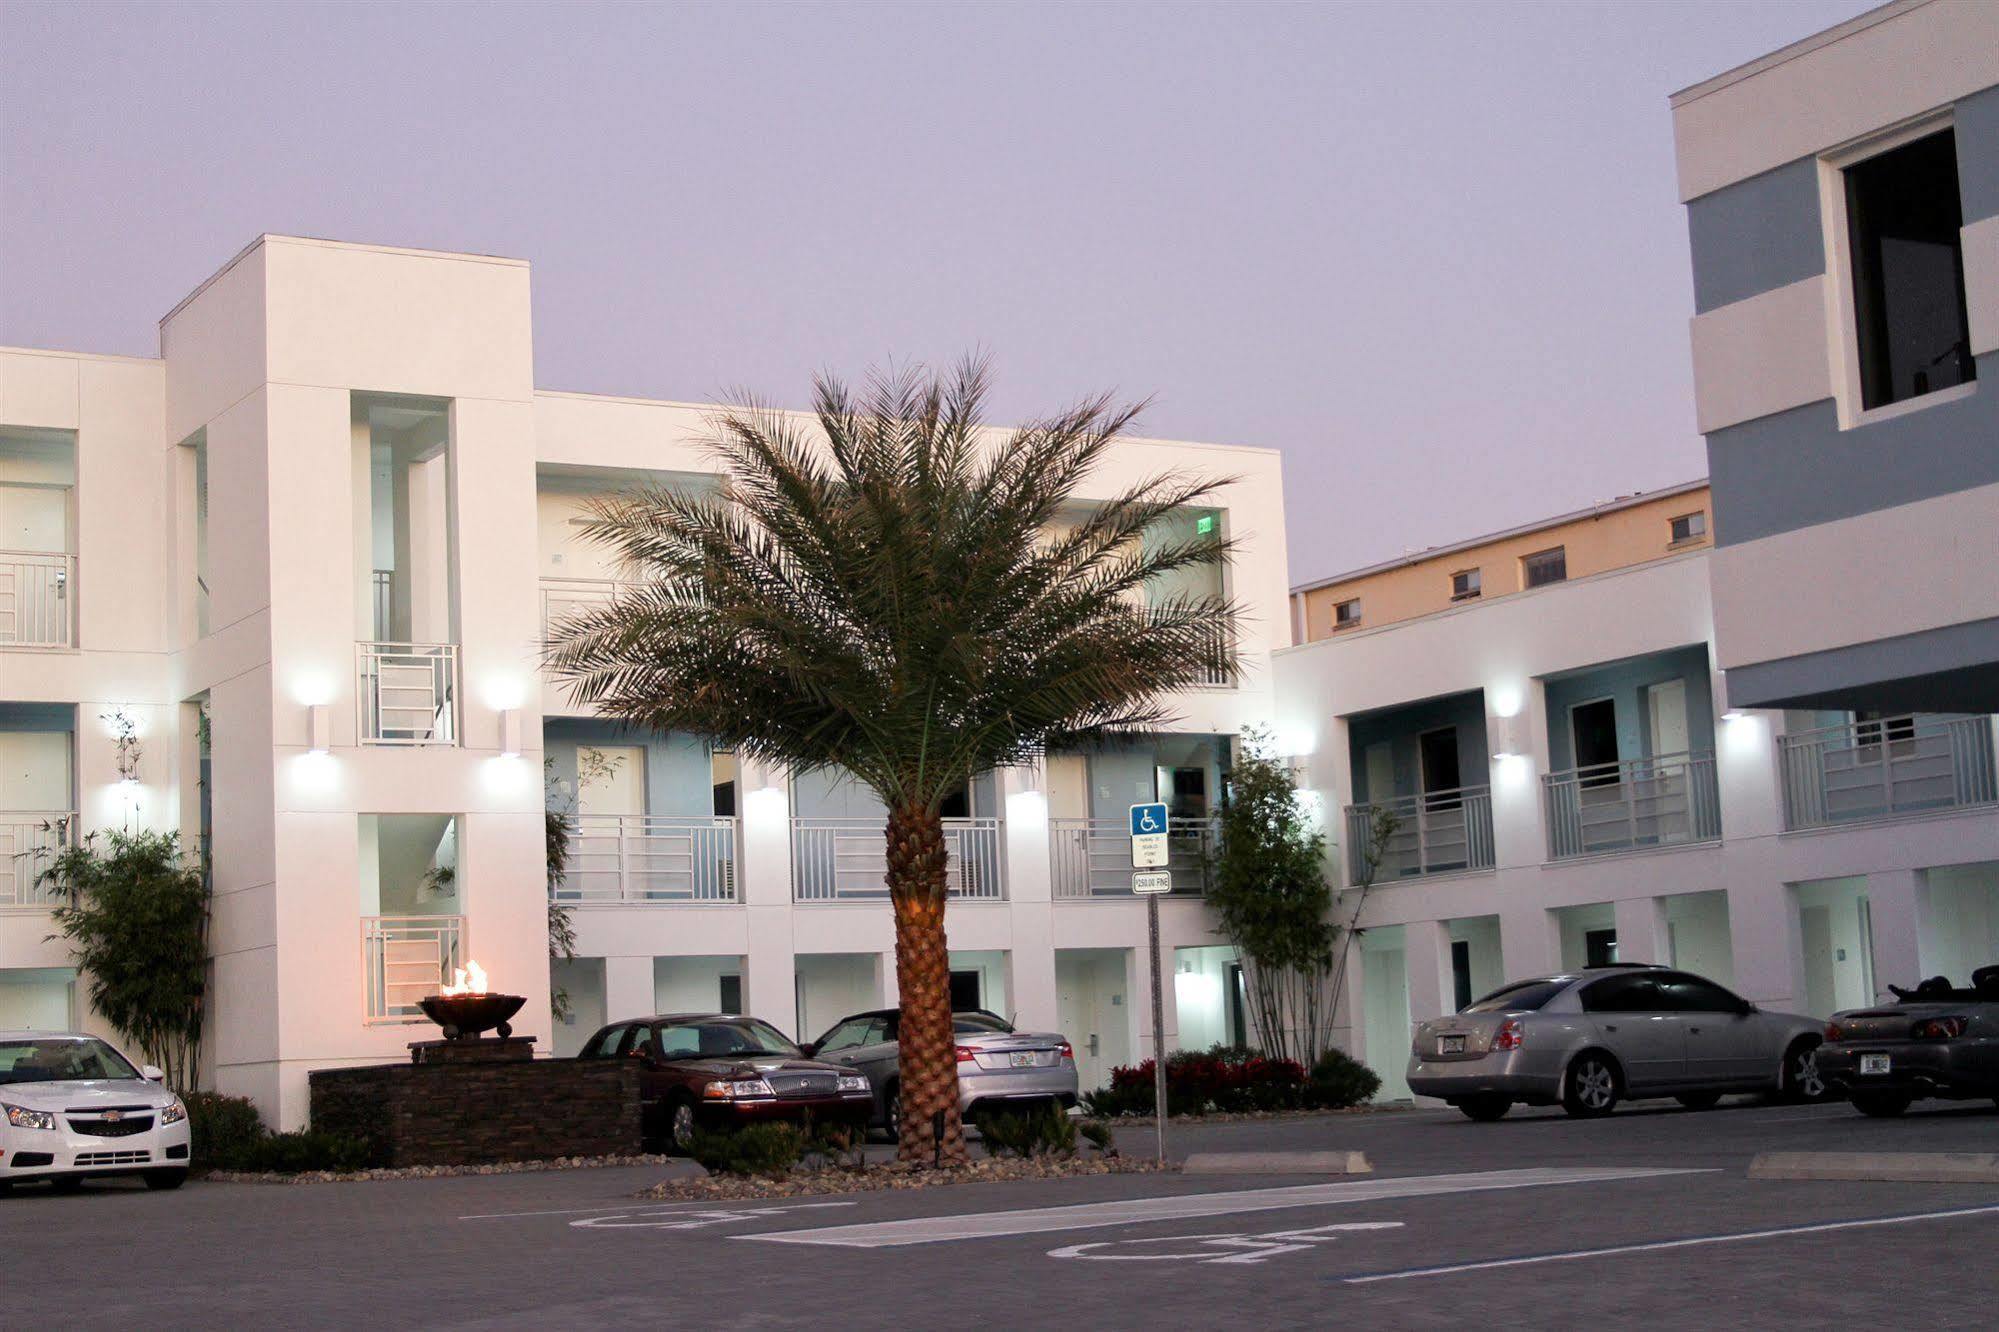
[[[558,902],[736,902],[736,820],[582,816]]]

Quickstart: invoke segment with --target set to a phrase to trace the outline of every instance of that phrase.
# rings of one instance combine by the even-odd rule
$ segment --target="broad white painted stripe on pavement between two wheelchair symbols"
[[[820,1226],[814,1230],[774,1230],[738,1234],[738,1240],[770,1240],[774,1244],[834,1244],[842,1248],[896,1248],[904,1244],[938,1244],[942,1240],[998,1240],[1015,1234],[1047,1230],[1087,1230],[1093,1226],[1129,1226],[1135,1222],[1189,1220],[1197,1216],[1231,1216],[1237,1212],[1271,1212],[1277,1208],[1309,1208],[1339,1202],[1379,1202],[1383,1198],[1429,1198],[1437,1194],[1469,1194],[1497,1188],[1541,1188],[1549,1184],[1599,1184],[1605,1180],[1643,1180],[1665,1174],[1713,1174],[1711,1170],[1575,1166],[1543,1170],[1481,1170],[1475,1174],[1421,1174],[1391,1180],[1345,1180],[1339,1184],[1299,1184],[1291,1188],[1255,1188],[1225,1194],[1177,1194],[1167,1198],[1127,1198],[1121,1202],[1085,1202],[1065,1208],[1027,1208],[1019,1212],[974,1212],[970,1216],[920,1216],[896,1222],[854,1226]]]

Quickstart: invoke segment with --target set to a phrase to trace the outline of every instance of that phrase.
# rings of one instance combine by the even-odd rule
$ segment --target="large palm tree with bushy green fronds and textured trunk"
[[[710,418],[720,488],[594,502],[588,536],[636,578],[554,626],[548,662],[608,716],[846,770],[880,796],[902,1158],[962,1162],[940,804],[1049,744],[1157,726],[1171,690],[1235,676],[1227,598],[1145,596],[1227,558],[1219,532],[1155,530],[1225,482],[1159,474],[1087,504],[1137,408],[1097,396],[986,430],[978,360],[814,390],[812,416],[750,402]]]

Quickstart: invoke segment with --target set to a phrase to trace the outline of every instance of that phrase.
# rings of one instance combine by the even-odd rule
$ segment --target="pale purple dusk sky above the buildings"
[[[0,344],[258,232],[534,262],[544,388],[984,344],[1285,452],[1297,582],[1697,476],[1669,92],[1869,8],[0,0]]]

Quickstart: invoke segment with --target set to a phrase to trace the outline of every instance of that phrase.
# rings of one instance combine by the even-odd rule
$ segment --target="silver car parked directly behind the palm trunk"
[[[842,1018],[806,1054],[868,1076],[876,1118],[894,1136],[902,1118],[902,1078],[894,1008]],[[1075,1104],[1075,1050],[1055,1032],[1015,1032],[984,1010],[952,1014],[958,1036],[958,1106],[970,1120],[1007,1104]]]

